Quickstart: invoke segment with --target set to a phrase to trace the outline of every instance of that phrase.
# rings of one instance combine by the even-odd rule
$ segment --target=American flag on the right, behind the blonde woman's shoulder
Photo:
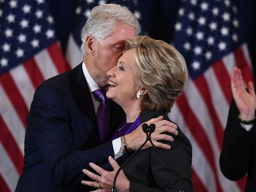
[[[246,82],[253,81],[239,27],[237,7],[230,0],[183,0],[178,10],[174,46],[184,55],[189,77],[170,117],[191,141],[195,192],[244,191],[245,178],[229,181],[219,167],[234,66]]]

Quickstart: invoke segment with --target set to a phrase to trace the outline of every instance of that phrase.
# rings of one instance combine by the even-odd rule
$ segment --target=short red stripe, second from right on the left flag
[[[23,63],[30,79],[36,89],[41,83],[43,83],[44,78],[35,62],[35,59],[32,57]]]

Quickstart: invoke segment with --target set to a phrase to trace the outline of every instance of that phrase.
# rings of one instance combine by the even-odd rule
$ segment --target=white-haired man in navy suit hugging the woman
[[[83,62],[73,70],[46,80],[35,91],[27,117],[25,167],[17,184],[17,192],[91,191],[81,184],[83,168],[89,162],[111,168],[108,157],[125,153],[121,139],[109,141],[123,119],[124,112],[105,97],[107,72],[121,57],[125,39],[139,32],[132,13],[119,5],[102,5],[92,10],[83,30],[81,46]],[[170,146],[156,142],[173,138],[176,125],[161,118],[152,134],[160,148]],[[126,137],[129,150],[145,141],[141,126]],[[150,147],[150,144],[146,148]]]

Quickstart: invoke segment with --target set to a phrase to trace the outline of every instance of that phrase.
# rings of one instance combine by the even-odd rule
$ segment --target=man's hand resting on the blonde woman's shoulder
[[[171,146],[167,144],[163,144],[161,142],[157,142],[157,140],[166,140],[166,141],[173,141],[174,138],[171,137],[170,135],[165,135],[161,134],[163,132],[169,132],[172,133],[173,135],[178,135],[177,126],[169,122],[167,120],[163,120],[163,116],[160,116],[158,118],[153,118],[149,121],[146,122],[148,125],[154,123],[156,125],[155,131],[151,134],[151,139],[152,142],[155,144],[156,147],[158,148],[163,148],[166,150],[169,150]],[[137,127],[132,133],[125,135],[125,140],[126,140],[126,146],[129,151],[135,151],[137,150],[141,144],[143,144],[146,140],[146,134],[142,130],[142,124]],[[148,141],[147,144],[141,149],[145,150],[148,148],[151,148],[152,145]],[[121,149],[124,150],[124,146],[121,146]]]

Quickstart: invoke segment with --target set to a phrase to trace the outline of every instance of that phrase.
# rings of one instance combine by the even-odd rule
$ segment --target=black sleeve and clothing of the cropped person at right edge
[[[256,87],[254,89],[256,90]],[[246,131],[240,126],[238,114],[239,110],[232,100],[219,163],[223,175],[232,181],[237,181],[248,173],[245,192],[255,192],[256,124],[254,123],[250,131]]]

